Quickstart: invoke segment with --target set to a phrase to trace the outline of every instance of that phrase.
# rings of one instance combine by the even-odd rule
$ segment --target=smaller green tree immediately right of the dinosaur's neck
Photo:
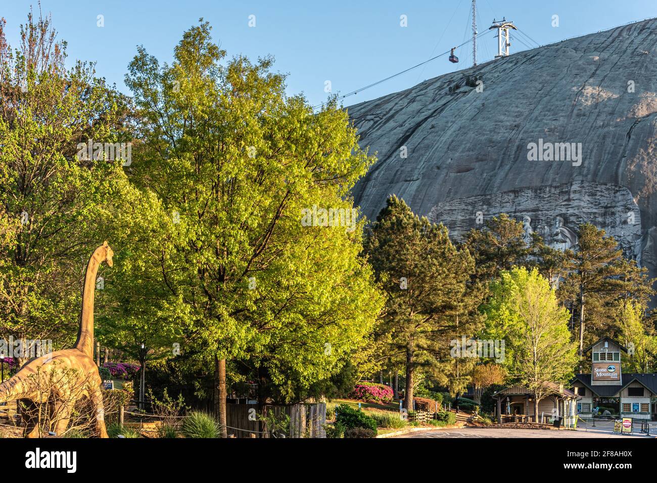
[[[184,350],[187,318],[185,305],[166,285],[162,266],[152,263],[154,250],[166,245],[173,233],[173,220],[160,201],[152,192],[133,197],[130,215],[120,219],[118,227],[127,239],[116,245],[114,268],[97,295],[97,339],[139,361],[139,401],[143,402],[147,361]]]

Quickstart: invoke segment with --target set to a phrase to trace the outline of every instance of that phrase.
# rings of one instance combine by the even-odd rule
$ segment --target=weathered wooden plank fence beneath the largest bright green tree
[[[327,405],[324,402],[317,404],[290,404],[286,406],[263,406],[258,404],[227,404],[226,426],[228,434],[235,438],[269,438],[269,428],[265,421],[260,421],[260,414],[273,412],[276,419],[281,421],[284,415],[290,418],[287,429],[280,436],[286,438],[326,438],[324,425],[327,421]]]

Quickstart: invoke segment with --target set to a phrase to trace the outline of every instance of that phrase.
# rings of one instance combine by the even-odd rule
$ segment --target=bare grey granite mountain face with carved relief
[[[657,19],[442,75],[348,112],[378,158],[353,189],[370,219],[396,194],[455,238],[508,213],[560,246],[568,242],[558,233],[591,222],[657,276]]]

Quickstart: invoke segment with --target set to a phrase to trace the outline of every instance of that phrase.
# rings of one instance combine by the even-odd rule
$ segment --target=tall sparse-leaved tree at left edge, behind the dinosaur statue
[[[120,160],[78,156],[79,142],[122,140],[124,99],[93,66],[67,68],[56,36],[30,12],[12,49],[0,20],[0,337],[58,348],[77,332],[85,264],[129,186]]]

